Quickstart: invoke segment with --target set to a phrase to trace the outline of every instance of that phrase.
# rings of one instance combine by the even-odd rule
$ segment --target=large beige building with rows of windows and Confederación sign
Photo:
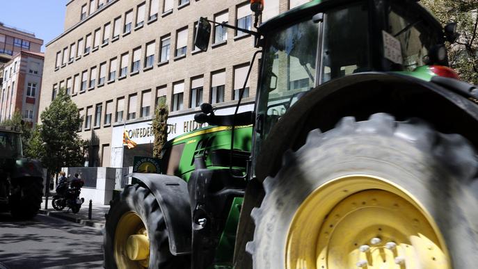
[[[265,21],[305,0],[267,1]],[[213,26],[207,51],[193,45],[199,17],[252,28],[249,1],[72,0],[65,31],[46,45],[40,111],[65,88],[84,121],[89,166],[126,167],[151,156],[154,108],[166,97],[168,139],[201,127],[194,114],[203,102],[216,114],[233,113],[255,48],[253,37]],[[253,63],[240,111],[253,110]],[[138,143],[124,149],[124,131]]]

